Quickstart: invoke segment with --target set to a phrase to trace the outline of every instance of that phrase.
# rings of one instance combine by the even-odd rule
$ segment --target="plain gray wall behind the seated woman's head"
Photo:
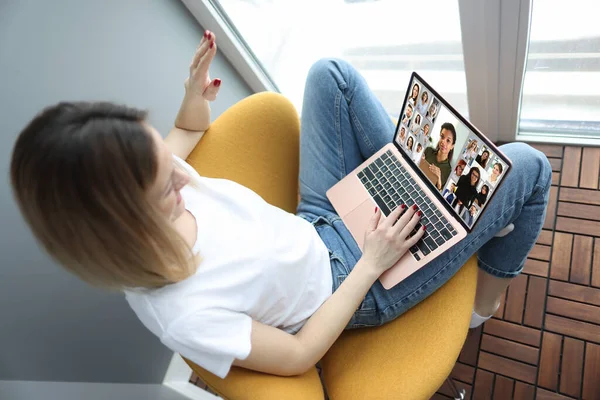
[[[0,380],[161,382],[171,352],[121,294],[79,282],[39,250],[8,166],[20,129],[59,100],[146,108],[166,134],[202,34],[179,0],[0,0]],[[223,79],[213,116],[250,94],[223,57],[211,72]]]

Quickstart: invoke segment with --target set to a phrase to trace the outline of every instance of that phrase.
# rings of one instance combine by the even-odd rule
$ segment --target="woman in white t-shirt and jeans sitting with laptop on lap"
[[[540,152],[502,146],[513,173],[469,240],[385,290],[379,276],[423,234],[408,236],[418,210],[400,206],[385,216],[375,208],[361,249],[326,196],[392,141],[384,107],[349,63],[311,68],[300,202],[287,213],[183,161],[209,127],[220,87],[208,74],[216,48],[206,32],[165,140],[144,112],[112,103],[60,103],[20,133],[11,160],[15,199],[55,260],[94,285],[123,290],[162,343],[220,377],[232,365],[302,374],[344,329],[397,318],[475,252],[481,273],[472,325],[494,314],[543,224],[551,169]],[[510,235],[491,240],[510,223]]]

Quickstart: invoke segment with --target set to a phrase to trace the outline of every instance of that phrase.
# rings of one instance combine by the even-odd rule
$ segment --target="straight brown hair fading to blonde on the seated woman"
[[[193,274],[191,249],[148,200],[157,174],[146,113],[59,103],[20,133],[11,181],[21,213],[67,270],[105,288],[157,288]]]

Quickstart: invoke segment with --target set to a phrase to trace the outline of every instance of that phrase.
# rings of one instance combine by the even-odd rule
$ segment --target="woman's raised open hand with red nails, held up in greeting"
[[[217,54],[216,36],[211,31],[206,31],[190,64],[190,76],[185,80],[185,89],[189,93],[200,95],[208,101],[217,98],[221,87],[221,80],[211,80],[208,73],[215,54]]]

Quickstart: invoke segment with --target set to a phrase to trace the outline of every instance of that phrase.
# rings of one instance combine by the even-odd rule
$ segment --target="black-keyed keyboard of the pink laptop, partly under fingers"
[[[390,150],[360,171],[358,178],[385,216],[402,204],[416,204],[423,213],[421,223],[411,232],[416,233],[422,224],[427,226],[423,238],[410,248],[415,259],[421,259],[418,250],[426,256],[457,234]]]

